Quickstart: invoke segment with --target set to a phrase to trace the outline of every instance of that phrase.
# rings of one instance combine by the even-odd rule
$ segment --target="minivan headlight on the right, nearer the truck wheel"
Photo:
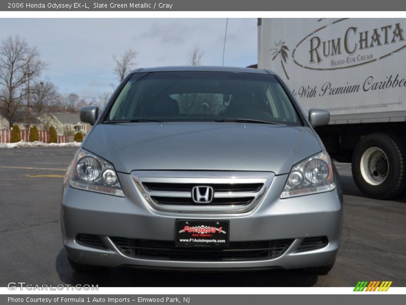
[[[294,165],[281,198],[328,192],[335,189],[331,160],[325,151]]]

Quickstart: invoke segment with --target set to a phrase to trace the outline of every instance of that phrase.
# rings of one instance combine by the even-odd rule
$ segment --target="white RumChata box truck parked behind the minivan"
[[[377,199],[406,190],[406,19],[260,18],[258,68],[276,72],[330,156],[352,164],[358,189]]]

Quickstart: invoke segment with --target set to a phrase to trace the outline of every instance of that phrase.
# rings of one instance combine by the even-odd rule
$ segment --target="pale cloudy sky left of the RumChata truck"
[[[62,94],[98,97],[118,84],[113,54],[137,50],[137,67],[187,64],[197,43],[201,65],[221,65],[226,19],[0,19],[0,39],[19,34],[47,63],[43,79]],[[229,19],[224,66],[257,63],[256,19]],[[79,75],[78,75],[79,74]]]

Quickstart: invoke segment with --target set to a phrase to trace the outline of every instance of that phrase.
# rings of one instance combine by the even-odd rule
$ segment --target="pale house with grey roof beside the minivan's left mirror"
[[[44,129],[53,126],[56,133],[62,135],[73,135],[81,132],[87,134],[91,128],[90,124],[83,123],[80,120],[79,112],[55,112],[38,118]]]

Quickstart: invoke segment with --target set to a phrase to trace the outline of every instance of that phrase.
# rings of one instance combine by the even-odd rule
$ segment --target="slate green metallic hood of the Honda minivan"
[[[98,124],[83,148],[132,170],[234,170],[288,173],[322,147],[308,127],[252,123]]]

